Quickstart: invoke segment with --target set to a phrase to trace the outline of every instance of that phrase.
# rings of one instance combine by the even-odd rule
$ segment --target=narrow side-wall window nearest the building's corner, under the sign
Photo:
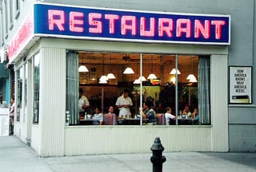
[[[33,123],[39,122],[39,84],[40,84],[40,58],[34,56],[34,101],[33,101]]]

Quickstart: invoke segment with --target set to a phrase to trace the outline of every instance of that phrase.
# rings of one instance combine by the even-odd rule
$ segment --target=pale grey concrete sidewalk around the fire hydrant
[[[164,145],[163,145],[164,147]],[[73,157],[40,158],[15,136],[0,137],[0,171],[2,172],[150,172],[148,154],[103,154]],[[256,172],[253,153],[166,153],[165,172]]]

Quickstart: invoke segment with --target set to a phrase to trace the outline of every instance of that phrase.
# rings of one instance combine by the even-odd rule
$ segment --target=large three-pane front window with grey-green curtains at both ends
[[[69,52],[66,68],[71,125],[210,124],[210,57]]]

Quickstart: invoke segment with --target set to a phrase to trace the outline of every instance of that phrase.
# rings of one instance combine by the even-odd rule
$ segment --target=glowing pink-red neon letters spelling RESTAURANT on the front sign
[[[116,33],[115,27],[117,22],[121,23],[120,33],[122,35],[137,35],[142,37],[204,37],[210,38],[210,33],[214,33],[215,39],[221,39],[222,26],[226,25],[225,21],[218,20],[205,20],[204,23],[197,19],[191,20],[187,18],[178,18],[176,21],[172,18],[137,18],[133,15],[117,15],[117,14],[99,14],[89,13],[88,16],[81,12],[71,11],[69,15],[69,28],[65,28],[66,23],[65,12],[63,10],[48,10],[49,27],[48,29],[58,29],[64,31],[69,29],[74,33],[103,33],[108,32],[110,34]],[[88,20],[88,24],[86,23]],[[156,22],[158,21],[158,23]],[[139,22],[139,24],[137,23]],[[104,25],[108,25],[108,28],[103,28]],[[139,33],[137,33],[139,25]],[[194,28],[192,28],[194,25]],[[175,26],[175,28],[174,28]],[[210,32],[213,29],[214,32]],[[104,29],[104,30],[103,30]]]

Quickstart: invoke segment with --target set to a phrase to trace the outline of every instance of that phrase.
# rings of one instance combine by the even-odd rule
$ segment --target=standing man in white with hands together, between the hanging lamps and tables
[[[125,117],[126,115],[130,116],[130,107],[133,105],[133,102],[128,95],[129,90],[125,89],[122,96],[119,96],[117,102],[115,103],[119,109],[119,117]]]

